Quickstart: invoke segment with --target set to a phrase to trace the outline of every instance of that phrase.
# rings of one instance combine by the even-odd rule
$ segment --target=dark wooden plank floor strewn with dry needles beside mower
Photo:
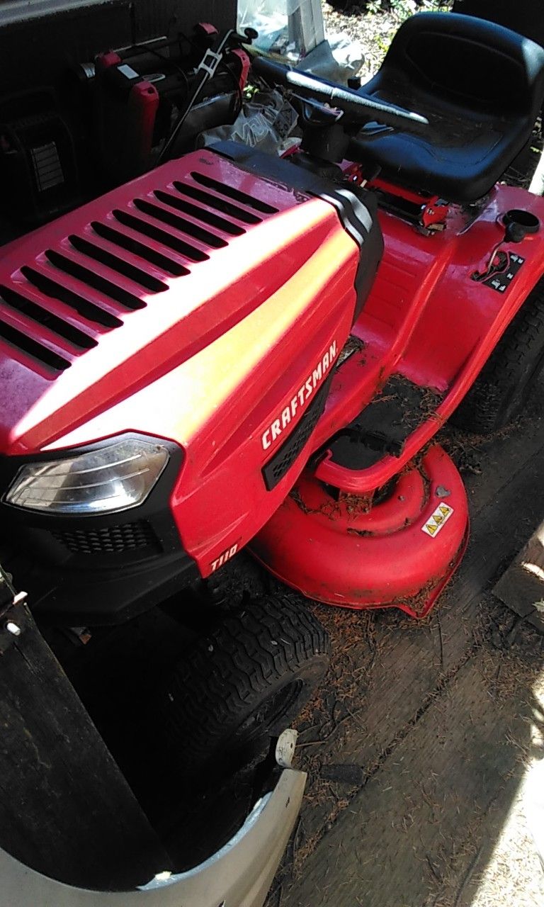
[[[267,907],[541,907],[526,819],[544,637],[491,594],[544,518],[544,424],[444,438],[471,541],[429,619],[316,605],[334,658],[300,725],[306,801]]]

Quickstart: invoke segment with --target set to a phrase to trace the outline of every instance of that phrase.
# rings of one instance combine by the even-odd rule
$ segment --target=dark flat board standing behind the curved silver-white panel
[[[5,629],[8,620],[19,635]],[[41,873],[92,889],[130,889],[169,868],[24,605],[0,627],[0,727],[2,848]]]

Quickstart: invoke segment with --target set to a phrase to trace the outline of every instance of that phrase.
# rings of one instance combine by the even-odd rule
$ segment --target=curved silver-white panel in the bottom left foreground
[[[136,891],[90,892],[35,873],[0,850],[0,907],[262,907],[300,811],[304,772],[286,768],[237,834],[186,873]]]

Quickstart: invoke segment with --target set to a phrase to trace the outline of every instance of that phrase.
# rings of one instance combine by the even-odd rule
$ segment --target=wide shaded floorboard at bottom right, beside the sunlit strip
[[[345,806],[282,907],[458,903],[519,785],[540,670],[532,631],[515,651],[478,649]]]

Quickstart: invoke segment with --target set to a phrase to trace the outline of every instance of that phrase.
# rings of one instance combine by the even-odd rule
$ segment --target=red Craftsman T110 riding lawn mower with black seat
[[[544,201],[500,183],[538,44],[423,13],[363,87],[253,74],[288,157],[166,155],[0,261],[1,560],[44,626],[199,620],[164,696],[188,771],[323,677],[302,597],[429,613],[469,532],[434,436],[508,424],[544,362]]]

